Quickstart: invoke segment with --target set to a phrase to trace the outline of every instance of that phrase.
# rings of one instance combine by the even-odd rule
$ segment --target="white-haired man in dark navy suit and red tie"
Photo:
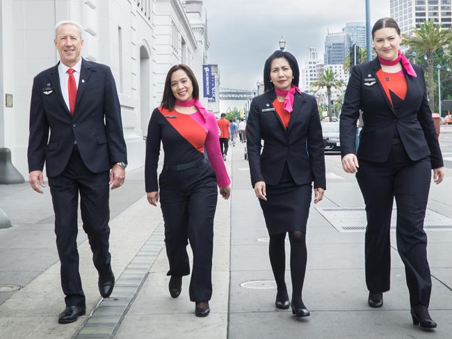
[[[58,317],[61,324],[86,313],[76,244],[79,195],[83,230],[99,272],[99,292],[109,297],[113,291],[108,187],[122,185],[127,166],[115,80],[108,66],[81,58],[82,31],[77,22],[56,24],[54,43],[60,62],[34,78],[31,93],[29,181],[42,194],[46,163],[66,303]]]

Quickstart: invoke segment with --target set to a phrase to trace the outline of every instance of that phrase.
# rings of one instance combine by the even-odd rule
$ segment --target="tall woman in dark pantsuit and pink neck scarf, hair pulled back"
[[[391,246],[389,226],[394,197],[397,205],[397,249],[405,274],[413,324],[433,329],[428,314],[432,282],[423,231],[430,171],[444,178],[441,150],[428,107],[423,70],[399,51],[401,34],[392,18],[372,29],[378,57],[352,69],[342,106],[342,166],[356,173],[364,202],[366,285],[369,306],[381,307],[389,290]],[[362,110],[364,127],[355,155],[356,122]]]

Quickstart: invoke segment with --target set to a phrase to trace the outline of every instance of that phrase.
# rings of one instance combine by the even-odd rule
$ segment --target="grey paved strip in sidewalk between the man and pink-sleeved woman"
[[[115,281],[109,298],[101,299],[73,339],[113,338],[163,248],[163,221]]]

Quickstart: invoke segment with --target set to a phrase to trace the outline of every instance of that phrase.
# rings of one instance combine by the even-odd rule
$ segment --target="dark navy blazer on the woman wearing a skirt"
[[[269,90],[250,105],[246,135],[252,186],[259,181],[278,184],[287,162],[296,184],[314,181],[314,188],[326,189],[322,127],[315,98],[295,93],[287,129],[273,107],[275,99],[275,90]]]

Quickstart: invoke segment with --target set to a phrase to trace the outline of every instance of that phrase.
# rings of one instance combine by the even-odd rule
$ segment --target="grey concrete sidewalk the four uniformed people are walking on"
[[[189,276],[184,278],[177,299],[168,293],[161,212],[147,203],[143,170],[128,173],[124,190],[112,192],[111,253],[118,280],[109,299],[102,301],[99,297],[92,254],[84,234],[79,236],[88,315],[67,325],[57,323],[64,301],[51,203],[45,200],[49,194],[34,196],[26,185],[1,186],[0,203],[14,226],[0,230],[0,283],[24,287],[7,297],[0,293],[0,338],[451,338],[452,231],[428,230],[433,276],[430,313],[438,323],[436,331],[425,333],[412,325],[394,232],[392,290],[385,293],[383,308],[369,308],[364,283],[364,232],[339,232],[335,227],[341,214],[334,219],[323,210],[359,210],[364,206],[354,176],[341,170],[339,156],[334,155],[326,157],[325,199],[312,207],[307,226],[303,300],[311,316],[298,319],[291,310],[275,309],[268,234],[250,187],[243,152],[243,144],[237,142],[229,148],[226,161],[232,173],[233,194],[231,200],[218,198],[213,297],[207,318],[194,315],[194,303],[188,299]],[[452,188],[447,178],[451,172],[446,169],[446,181],[430,190],[428,223],[432,225],[451,221],[452,226],[452,204],[446,200]],[[346,217],[365,224],[358,210]],[[289,253],[287,243],[286,262]],[[287,263],[289,295],[290,281]]]

